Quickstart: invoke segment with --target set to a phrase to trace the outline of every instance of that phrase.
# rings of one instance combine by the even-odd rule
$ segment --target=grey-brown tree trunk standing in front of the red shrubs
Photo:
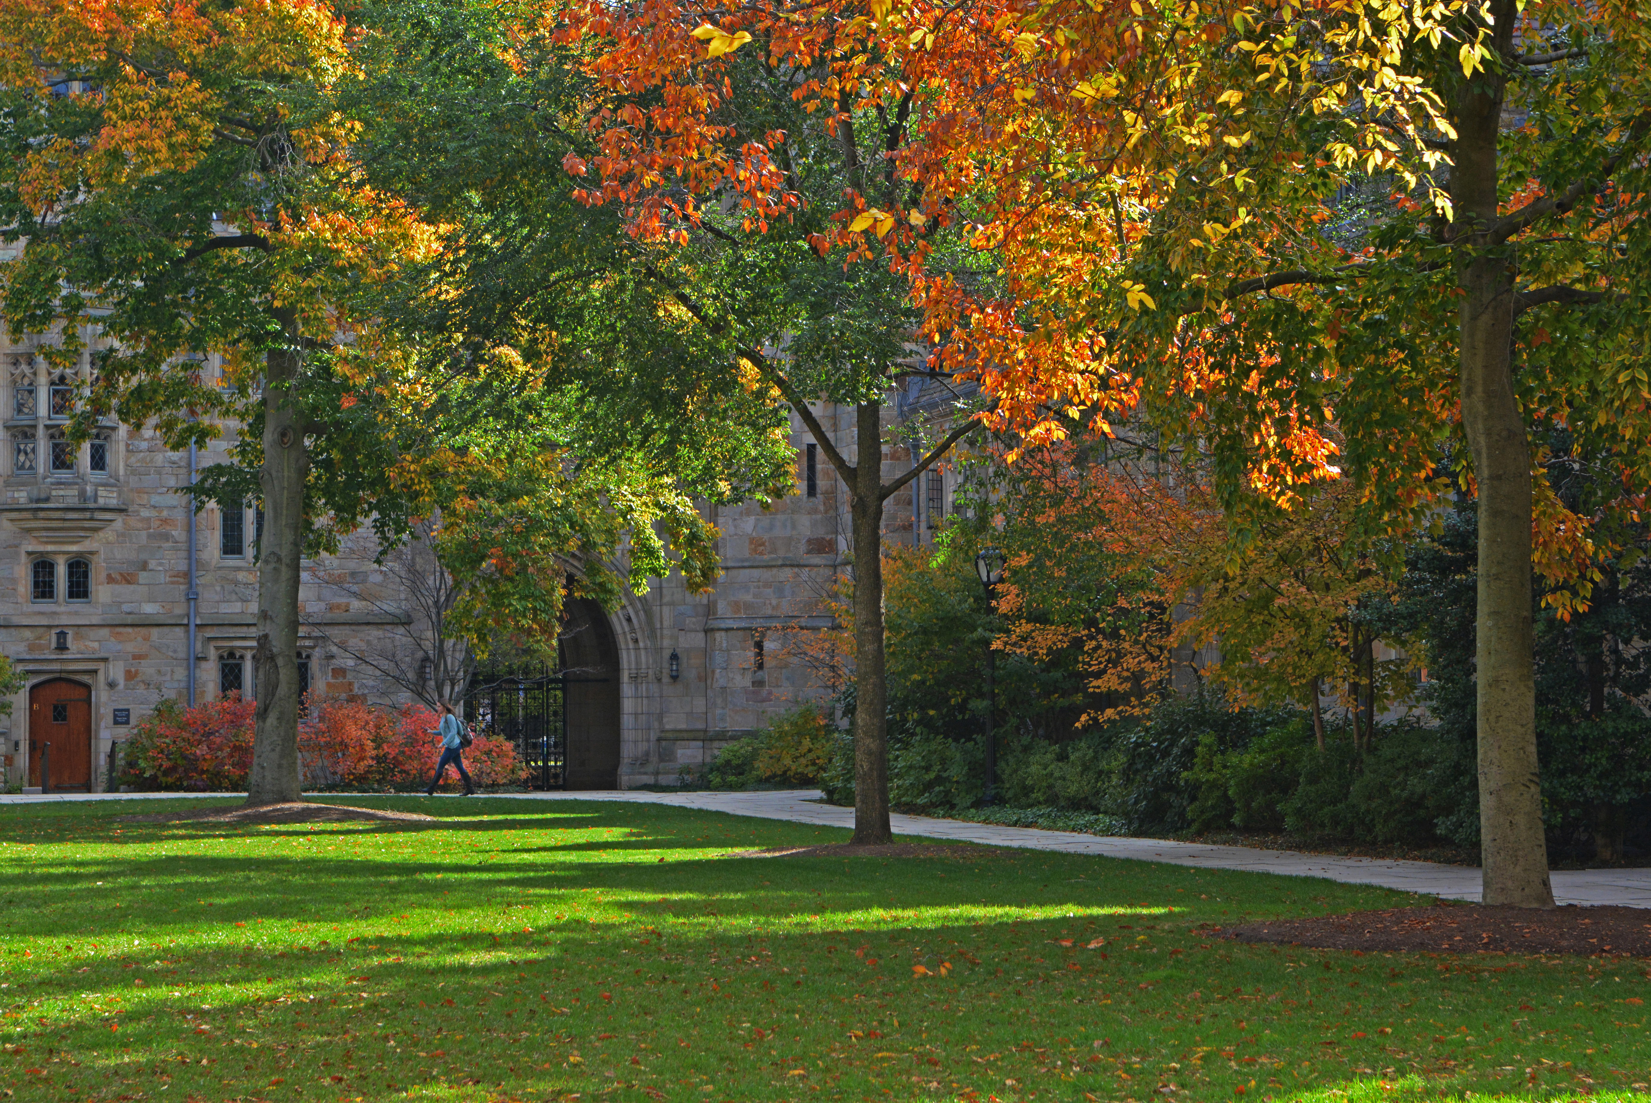
[[[287,319],[284,319],[287,320]],[[292,335],[296,320],[287,320]],[[309,451],[304,416],[287,401],[299,373],[299,352],[266,357],[264,381],[264,535],[258,545],[258,695],[248,804],[297,801],[299,773],[299,560],[304,553],[304,485]]]

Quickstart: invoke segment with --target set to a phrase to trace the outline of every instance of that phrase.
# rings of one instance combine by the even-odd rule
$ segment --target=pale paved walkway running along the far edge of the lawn
[[[41,801],[104,801],[180,796],[177,793],[121,793],[121,794],[51,794],[51,796],[0,796],[0,806],[33,804]],[[243,796],[234,793],[201,793],[198,796]],[[348,794],[327,794],[329,798]],[[522,793],[509,794],[525,801],[624,801],[639,804],[667,804],[672,807],[697,807],[708,812],[733,816],[758,816],[784,819],[824,827],[852,827],[854,809],[821,804],[814,789],[788,789],[781,793]],[[949,839],[954,842],[981,842],[994,847],[1027,847],[1034,850],[1063,850],[1067,854],[1095,854],[1111,859],[1138,859],[1142,862],[1167,862],[1171,865],[1195,865],[1200,869],[1250,870],[1255,873],[1284,873],[1289,877],[1324,877],[1351,885],[1380,885],[1400,892],[1415,892],[1450,900],[1479,898],[1479,870],[1466,865],[1438,865],[1435,862],[1397,862],[1384,859],[1344,859],[1322,854],[1298,854],[1293,850],[1255,850],[1250,847],[1213,847],[1197,842],[1167,839],[1118,839],[1083,836],[1067,831],[1040,831],[1035,827],[999,827],[997,824],[969,824],[958,819],[931,819],[928,816],[890,816],[896,836]],[[1651,869],[1631,870],[1555,870],[1554,898],[1559,903],[1618,903],[1631,908],[1651,908]]]

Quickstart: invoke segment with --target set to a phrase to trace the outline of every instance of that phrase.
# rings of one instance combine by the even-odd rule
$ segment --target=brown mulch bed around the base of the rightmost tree
[[[1481,903],[1440,903],[1430,908],[1352,911],[1311,920],[1266,920],[1220,933],[1240,943],[1319,949],[1651,958],[1651,911],[1623,907],[1567,905],[1539,911],[1493,908]]]

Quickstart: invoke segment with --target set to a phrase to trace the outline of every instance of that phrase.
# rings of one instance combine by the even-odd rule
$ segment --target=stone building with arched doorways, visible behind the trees
[[[78,373],[51,375],[36,338],[0,334],[0,654],[26,677],[12,715],[0,717],[5,774],[36,786],[45,771],[53,789],[99,791],[111,745],[158,700],[256,695],[261,517],[251,504],[192,517],[182,490],[192,464],[223,461],[228,441],[192,457],[111,423],[71,444],[64,426],[89,358]],[[903,444],[887,443],[900,438],[896,423],[939,403],[916,388],[892,400],[885,479],[911,462]],[[821,403],[816,413],[852,456],[854,411]],[[672,783],[684,766],[817,695],[806,670],[768,654],[764,634],[824,623],[819,599],[849,552],[849,502],[801,423],[794,441],[792,495],[768,510],[712,510],[723,563],[712,593],[688,594],[674,575],[611,614],[570,603],[563,662],[583,675],[568,690],[571,788]],[[890,499],[890,542],[921,540],[946,510],[951,480],[933,472]],[[360,656],[418,626],[375,552],[370,533],[358,533],[340,555],[309,565],[299,669],[314,690],[396,705],[406,690]]]

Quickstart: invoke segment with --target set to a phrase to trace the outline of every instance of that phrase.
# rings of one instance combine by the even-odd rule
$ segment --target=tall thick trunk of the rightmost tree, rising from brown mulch
[[[1514,2],[1497,0],[1496,45],[1511,54]],[[1484,903],[1552,908],[1537,778],[1530,624],[1530,446],[1514,398],[1514,263],[1489,246],[1502,81],[1463,89],[1451,170],[1459,267],[1461,419],[1479,484],[1478,743]]]

